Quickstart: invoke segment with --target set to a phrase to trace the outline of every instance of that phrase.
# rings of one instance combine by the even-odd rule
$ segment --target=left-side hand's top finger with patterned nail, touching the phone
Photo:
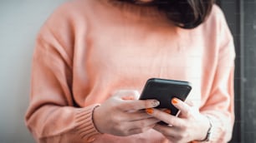
[[[136,100],[125,101],[122,103],[123,111],[139,111],[141,109],[153,108],[159,106],[160,102],[156,100]]]

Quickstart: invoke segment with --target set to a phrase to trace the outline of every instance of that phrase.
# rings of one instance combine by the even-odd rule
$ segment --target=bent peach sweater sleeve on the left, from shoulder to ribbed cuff
[[[52,19],[59,21],[58,18]],[[51,22],[46,22],[39,32],[33,53],[26,125],[37,142],[94,141],[100,133],[95,129],[92,115],[99,105],[74,106],[71,88],[73,53],[72,48],[67,48],[72,45],[72,34],[68,22],[55,25],[64,32],[59,34],[51,31]],[[64,37],[60,38],[59,35]]]

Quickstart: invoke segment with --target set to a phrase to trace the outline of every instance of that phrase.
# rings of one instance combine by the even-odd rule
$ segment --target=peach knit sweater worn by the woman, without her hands
[[[66,2],[38,33],[26,124],[38,142],[167,142],[154,130],[100,134],[92,121],[95,106],[114,91],[141,91],[148,78],[161,77],[191,81],[188,98],[211,117],[212,140],[227,142],[234,57],[233,37],[217,6],[206,22],[186,30],[154,7]]]

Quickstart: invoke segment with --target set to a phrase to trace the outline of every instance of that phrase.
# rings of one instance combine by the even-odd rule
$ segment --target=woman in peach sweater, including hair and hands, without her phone
[[[228,142],[234,57],[212,0],[67,2],[38,34],[28,129],[51,143]],[[192,82],[170,103],[180,116],[137,100],[151,77]]]

